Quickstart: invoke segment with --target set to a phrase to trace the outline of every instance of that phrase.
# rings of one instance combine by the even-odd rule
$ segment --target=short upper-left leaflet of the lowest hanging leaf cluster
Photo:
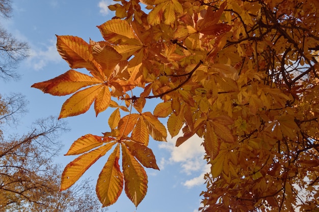
[[[87,134],[74,141],[65,155],[68,156],[82,154],[102,144],[103,141],[101,136]]]

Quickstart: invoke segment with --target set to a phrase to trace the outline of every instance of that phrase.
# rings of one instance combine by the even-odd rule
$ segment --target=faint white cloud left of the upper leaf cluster
[[[43,45],[43,48],[32,45],[30,57],[26,60],[26,64],[35,70],[41,70],[49,63],[59,63],[61,61],[56,42],[51,40],[49,44]]]

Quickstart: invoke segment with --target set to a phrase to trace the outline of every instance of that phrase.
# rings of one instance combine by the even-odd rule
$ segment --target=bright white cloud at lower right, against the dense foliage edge
[[[195,135],[179,147],[176,147],[176,138],[181,135],[180,133],[174,139],[168,139],[167,143],[159,145],[159,148],[167,149],[170,152],[170,158],[168,160],[162,158],[159,166],[163,169],[167,164],[178,163],[180,164],[181,171],[187,175],[194,176],[194,174],[197,174],[197,176],[184,181],[182,185],[188,188],[203,185],[204,174],[209,171],[209,166],[203,160],[205,154],[204,147],[201,145],[203,141]],[[198,173],[200,174],[198,175]]]

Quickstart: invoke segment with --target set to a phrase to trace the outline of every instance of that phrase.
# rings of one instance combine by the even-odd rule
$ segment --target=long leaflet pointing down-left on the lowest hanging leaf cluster
[[[107,143],[89,153],[85,153],[70,162],[65,168],[61,176],[60,190],[66,190],[72,186],[86,170],[90,168],[100,157],[104,156],[115,144],[115,142]]]

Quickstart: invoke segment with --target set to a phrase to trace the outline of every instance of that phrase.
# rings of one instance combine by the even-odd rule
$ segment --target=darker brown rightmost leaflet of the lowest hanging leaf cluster
[[[131,141],[125,142],[125,145],[128,147],[130,154],[136,157],[143,166],[159,170],[152,149],[146,145]]]

